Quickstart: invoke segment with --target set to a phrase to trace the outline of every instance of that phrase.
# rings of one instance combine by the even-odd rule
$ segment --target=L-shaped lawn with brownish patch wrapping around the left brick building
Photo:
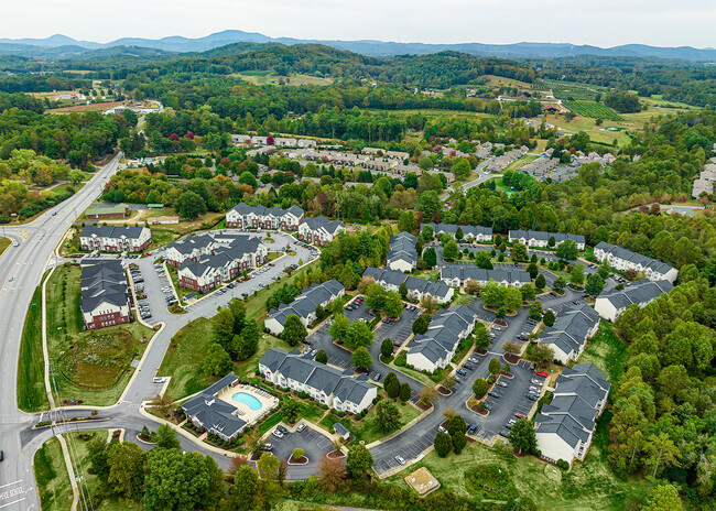
[[[139,323],[83,330],[80,268],[64,265],[47,282],[47,352],[59,402],[109,405],[121,395],[153,330]],[[59,404],[59,403],[57,403]]]

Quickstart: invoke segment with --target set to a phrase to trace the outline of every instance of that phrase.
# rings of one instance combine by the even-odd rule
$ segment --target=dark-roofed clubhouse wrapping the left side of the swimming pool
[[[182,404],[182,410],[192,424],[204,427],[208,433],[229,442],[243,433],[247,422],[238,416],[236,406],[219,399],[218,395],[238,383],[239,379],[231,372],[188,399]]]

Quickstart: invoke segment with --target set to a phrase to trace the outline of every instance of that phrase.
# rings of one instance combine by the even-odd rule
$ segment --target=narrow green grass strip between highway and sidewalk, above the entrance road
[[[31,413],[50,407],[45,390],[45,359],[42,352],[42,283],[32,295],[22,329],[18,362],[18,406]]]

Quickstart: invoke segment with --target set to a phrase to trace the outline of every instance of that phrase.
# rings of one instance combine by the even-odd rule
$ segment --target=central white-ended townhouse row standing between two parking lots
[[[465,305],[435,314],[425,334],[408,344],[406,361],[420,371],[435,372],[447,367],[460,340],[475,329],[475,313]]]

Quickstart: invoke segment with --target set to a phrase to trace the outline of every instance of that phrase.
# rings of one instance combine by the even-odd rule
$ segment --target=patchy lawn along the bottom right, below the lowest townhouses
[[[500,446],[499,442],[497,446]],[[518,459],[511,448],[497,446],[490,448],[476,442],[468,444],[459,456],[449,454],[446,458],[433,452],[387,482],[404,486],[403,478],[408,474],[426,467],[443,489],[462,497],[477,497],[469,481],[470,474],[477,467],[497,467],[509,475],[520,496],[530,498],[538,510],[545,511],[636,509],[648,492],[648,485],[643,481],[617,479],[594,445],[585,461],[575,463],[568,472],[533,457]]]

